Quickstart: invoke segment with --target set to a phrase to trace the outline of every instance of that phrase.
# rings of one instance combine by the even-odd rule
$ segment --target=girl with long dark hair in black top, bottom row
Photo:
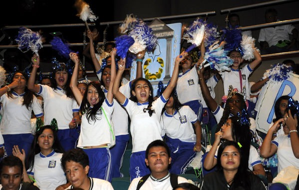
[[[259,177],[248,171],[248,159],[242,148],[233,141],[221,144],[217,154],[217,158],[219,158],[217,160],[218,170],[204,177],[200,189],[266,190]]]

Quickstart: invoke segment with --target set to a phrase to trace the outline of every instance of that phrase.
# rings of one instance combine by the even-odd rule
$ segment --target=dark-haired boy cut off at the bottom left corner
[[[1,190],[39,190],[31,183],[23,182],[22,161],[15,156],[8,156],[0,163],[0,189]]]

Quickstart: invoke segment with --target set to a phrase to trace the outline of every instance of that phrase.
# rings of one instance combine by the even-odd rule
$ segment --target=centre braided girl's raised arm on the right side
[[[165,100],[167,100],[172,92],[172,90],[175,88],[175,86],[177,85],[177,80],[178,80],[178,75],[179,75],[179,65],[180,62],[185,59],[185,57],[188,55],[187,52],[182,52],[180,55],[177,56],[175,62],[174,62],[174,69],[172,72],[172,76],[170,79],[170,83],[168,84],[168,86],[166,87],[166,89],[163,92],[163,97],[165,98]],[[182,57],[180,57],[182,56]]]

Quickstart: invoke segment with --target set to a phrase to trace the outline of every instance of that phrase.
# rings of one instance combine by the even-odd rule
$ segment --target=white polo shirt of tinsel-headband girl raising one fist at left
[[[37,95],[43,98],[44,125],[49,125],[51,120],[57,120],[58,129],[69,129],[68,124],[73,119],[73,112],[79,112],[75,99],[68,98],[63,89],[53,89],[47,85],[38,84],[40,87]]]

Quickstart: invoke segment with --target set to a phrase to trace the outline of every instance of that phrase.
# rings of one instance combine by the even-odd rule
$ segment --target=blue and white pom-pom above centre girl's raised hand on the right
[[[189,52],[193,48],[199,46],[204,38],[204,34],[205,34],[205,24],[202,24],[201,22],[195,20],[184,33],[183,38],[186,39],[187,42],[192,43],[192,45],[186,49],[186,52]]]

